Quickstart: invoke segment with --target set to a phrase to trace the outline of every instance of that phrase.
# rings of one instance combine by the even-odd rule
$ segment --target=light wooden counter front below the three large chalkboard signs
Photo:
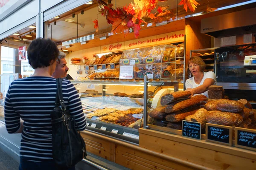
[[[140,147],[216,170],[255,170],[256,152],[140,128]]]

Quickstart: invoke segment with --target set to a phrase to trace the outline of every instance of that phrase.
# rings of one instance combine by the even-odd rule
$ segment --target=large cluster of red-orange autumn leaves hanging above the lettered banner
[[[139,36],[140,25],[142,23],[147,24],[143,17],[155,18],[151,11],[157,7],[158,1],[164,2],[166,0],[134,0],[134,4],[130,3],[123,8],[114,9],[113,4],[106,4],[102,0],[96,0],[100,7],[103,6],[99,13],[106,17],[108,24],[112,24],[111,32],[113,34],[126,34],[129,30],[133,30],[136,38]],[[163,9],[163,7],[159,6],[157,11],[162,13]],[[98,28],[96,20],[93,23],[95,23],[94,28]]]

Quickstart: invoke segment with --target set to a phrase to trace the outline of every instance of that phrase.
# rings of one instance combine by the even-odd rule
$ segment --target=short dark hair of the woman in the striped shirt
[[[57,60],[59,50],[55,42],[50,39],[37,38],[28,48],[28,60],[32,68],[44,68]]]

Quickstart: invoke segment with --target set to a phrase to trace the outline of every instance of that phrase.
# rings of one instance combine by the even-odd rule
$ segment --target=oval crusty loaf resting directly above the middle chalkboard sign
[[[207,123],[232,126],[236,122],[236,116],[230,112],[215,112],[209,113],[206,118]]]

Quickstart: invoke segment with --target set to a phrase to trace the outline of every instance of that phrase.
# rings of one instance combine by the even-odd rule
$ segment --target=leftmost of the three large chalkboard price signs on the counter
[[[182,136],[201,139],[201,123],[183,120]]]

